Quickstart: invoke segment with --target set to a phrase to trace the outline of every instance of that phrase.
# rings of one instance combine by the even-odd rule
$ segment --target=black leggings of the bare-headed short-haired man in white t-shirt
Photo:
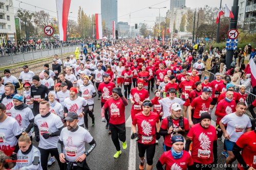
[[[42,149],[42,148],[38,148],[41,154],[41,166],[43,170],[47,170],[47,162],[48,162],[48,157],[49,154],[51,153],[51,155],[53,155],[55,157],[55,159],[57,160],[58,164],[59,164],[59,168],[61,169],[62,167],[62,163],[59,161],[59,153],[58,153],[58,149],[57,148],[51,148],[51,149]]]

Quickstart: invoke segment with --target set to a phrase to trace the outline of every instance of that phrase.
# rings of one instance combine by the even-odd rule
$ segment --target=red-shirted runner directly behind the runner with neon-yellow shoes
[[[112,89],[116,87],[115,83],[110,82],[109,74],[103,75],[104,82],[99,84],[98,94],[101,95],[101,107],[105,104],[105,102],[111,98]],[[111,134],[111,130],[109,129],[109,110],[105,110],[105,119],[106,119],[106,129],[109,130],[109,134]]]

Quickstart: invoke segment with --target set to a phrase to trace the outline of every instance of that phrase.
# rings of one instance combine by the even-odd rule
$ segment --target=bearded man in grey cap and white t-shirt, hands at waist
[[[62,129],[57,144],[60,162],[64,169],[90,170],[86,158],[96,147],[96,142],[88,130],[78,126],[75,112],[69,112],[65,120],[67,127]],[[85,143],[90,144],[88,150]]]

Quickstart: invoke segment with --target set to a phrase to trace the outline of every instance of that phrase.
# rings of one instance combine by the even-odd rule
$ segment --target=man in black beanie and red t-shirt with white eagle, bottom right
[[[194,161],[191,169],[205,169],[207,167],[217,164],[217,135],[214,126],[210,125],[211,116],[204,112],[200,116],[200,123],[192,126],[187,134],[185,151],[189,150],[189,145],[192,143],[191,157]],[[203,166],[202,166],[203,165]],[[212,165],[207,169],[211,169]]]

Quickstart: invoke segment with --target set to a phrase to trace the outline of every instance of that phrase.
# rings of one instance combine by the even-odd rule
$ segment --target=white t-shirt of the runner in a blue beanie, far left
[[[28,128],[30,124],[29,120],[34,118],[33,112],[29,107],[23,110],[16,110],[13,107],[11,108],[10,112],[11,116],[17,120],[22,132],[24,132]],[[32,132],[29,132],[28,135],[32,136]]]

